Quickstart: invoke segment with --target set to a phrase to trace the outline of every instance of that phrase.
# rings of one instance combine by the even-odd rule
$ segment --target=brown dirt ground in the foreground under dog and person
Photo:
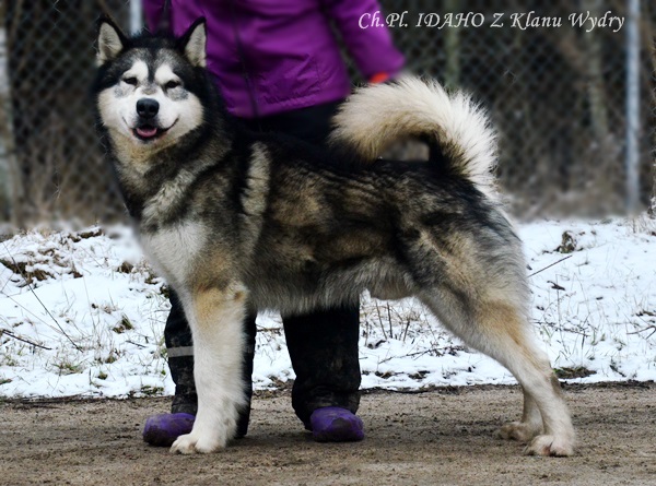
[[[522,455],[494,438],[520,413],[515,387],[363,395],[366,439],[316,443],[288,392],[258,394],[250,431],[223,452],[183,457],[141,441],[168,399],[0,404],[2,485],[656,485],[656,384],[565,388],[573,458]]]

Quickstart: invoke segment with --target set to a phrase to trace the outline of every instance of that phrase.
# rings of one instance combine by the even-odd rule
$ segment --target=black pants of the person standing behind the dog
[[[330,118],[338,103],[318,105],[244,123],[251,130],[277,131],[321,145],[330,131]],[[168,367],[176,384],[172,411],[196,414],[191,331],[177,296],[172,293],[171,315],[164,335],[168,348]],[[316,408],[340,406],[355,413],[360,404],[360,361],[358,340],[360,306],[336,308],[283,319],[286,344],[296,374],[292,406],[307,427]],[[246,393],[253,394],[253,357],[255,354],[255,317],[244,322],[247,345],[244,354]],[[246,435],[250,407],[239,416],[238,436]]]

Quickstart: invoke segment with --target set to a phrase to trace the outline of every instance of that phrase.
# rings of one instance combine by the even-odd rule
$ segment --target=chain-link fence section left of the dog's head
[[[2,130],[9,216],[24,226],[121,215],[95,133],[90,86],[95,20],[108,10],[125,21],[125,1],[14,0],[0,9],[9,79],[1,105],[9,121]]]

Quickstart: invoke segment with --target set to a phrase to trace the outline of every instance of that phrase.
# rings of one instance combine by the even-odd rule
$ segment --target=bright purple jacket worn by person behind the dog
[[[164,0],[143,0],[143,8],[152,31]],[[226,107],[256,118],[349,95],[330,19],[365,79],[400,71],[403,57],[387,28],[360,28],[360,17],[377,10],[376,0],[172,0],[171,25],[179,36],[206,17],[208,69]]]

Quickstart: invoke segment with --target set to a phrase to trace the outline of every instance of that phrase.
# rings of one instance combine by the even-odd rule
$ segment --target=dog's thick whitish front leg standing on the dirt
[[[186,296],[184,306],[194,335],[198,414],[191,432],[178,437],[171,451],[213,452],[234,437],[238,412],[246,405],[242,382],[246,291],[241,285],[203,289]]]

